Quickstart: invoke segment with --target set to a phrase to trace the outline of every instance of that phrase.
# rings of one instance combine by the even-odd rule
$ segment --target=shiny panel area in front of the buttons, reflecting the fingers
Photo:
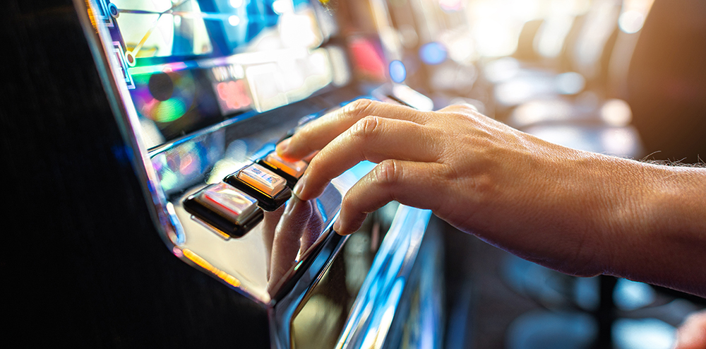
[[[183,242],[177,244],[174,253],[188,249],[220,273],[236,278],[237,287],[263,302],[269,302],[297,262],[323,240],[341,201],[333,185],[313,201],[290,199],[277,211],[265,212],[263,221],[244,237],[233,239],[184,211],[181,202],[190,194],[191,190],[186,191],[171,201],[184,231],[180,238]]]

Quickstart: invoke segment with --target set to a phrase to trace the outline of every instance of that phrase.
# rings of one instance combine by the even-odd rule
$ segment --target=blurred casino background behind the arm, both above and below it
[[[547,141],[638,160],[706,154],[706,2],[370,0],[388,78]],[[446,348],[671,348],[705,300],[573,278],[448,228]]]

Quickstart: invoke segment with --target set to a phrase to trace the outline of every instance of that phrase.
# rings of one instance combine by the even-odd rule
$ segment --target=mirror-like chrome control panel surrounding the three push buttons
[[[328,236],[342,195],[372,164],[361,163],[334,179],[318,199],[289,199],[280,208],[265,212],[263,221],[243,237],[230,237],[193,217],[183,202],[208,184],[221,183],[264,158],[274,149],[274,141],[297,126],[297,119],[320,115],[321,110],[312,112],[315,107],[308,101],[299,102],[152,150],[151,162],[174,227],[167,237],[175,255],[265,304],[292,280],[296,268]]]

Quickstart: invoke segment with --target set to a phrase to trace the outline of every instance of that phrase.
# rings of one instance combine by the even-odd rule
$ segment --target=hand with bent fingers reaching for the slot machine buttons
[[[589,276],[604,270],[594,254],[615,225],[608,212],[631,213],[603,195],[623,190],[615,167],[595,166],[628,160],[547,143],[462,105],[420,112],[357,100],[277,146],[291,160],[317,150],[294,189],[300,199],[361,160],[378,163],[343,199],[335,224],[342,235],[397,200],[525,259]]]

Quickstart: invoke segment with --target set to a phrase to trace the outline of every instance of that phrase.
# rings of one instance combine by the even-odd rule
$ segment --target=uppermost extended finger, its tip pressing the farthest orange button
[[[424,112],[402,105],[366,99],[355,100],[306,124],[294,136],[280,142],[277,145],[277,155],[287,160],[301,160],[306,155],[323,149],[358,120],[371,115],[417,124],[424,124],[428,117]]]

